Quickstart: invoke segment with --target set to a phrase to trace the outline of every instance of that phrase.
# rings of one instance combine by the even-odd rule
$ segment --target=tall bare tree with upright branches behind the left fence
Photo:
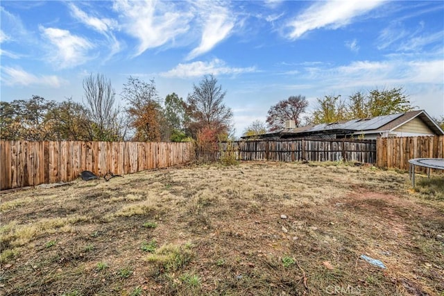
[[[122,118],[115,106],[115,92],[110,79],[103,74],[89,75],[83,80],[84,104],[89,111],[92,124],[89,126],[91,140],[122,140]]]

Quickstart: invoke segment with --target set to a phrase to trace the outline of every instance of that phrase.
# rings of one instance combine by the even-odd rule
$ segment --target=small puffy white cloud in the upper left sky
[[[85,38],[72,35],[69,31],[60,28],[44,28],[43,26],[39,28],[44,38],[56,47],[50,50],[47,58],[58,67],[75,67],[90,59],[88,50],[94,46]]]

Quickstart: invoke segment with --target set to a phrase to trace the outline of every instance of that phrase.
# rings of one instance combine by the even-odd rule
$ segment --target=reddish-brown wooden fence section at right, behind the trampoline
[[[444,136],[377,139],[378,167],[409,170],[411,158],[444,158]]]

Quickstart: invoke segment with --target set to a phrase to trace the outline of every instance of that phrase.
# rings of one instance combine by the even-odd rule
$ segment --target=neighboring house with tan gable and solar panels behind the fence
[[[376,139],[379,137],[411,137],[418,135],[444,135],[432,117],[425,110],[406,113],[361,118],[346,122],[316,124],[293,128],[291,122],[285,129],[256,135],[256,138],[359,138]],[[250,137],[242,137],[248,139]]]

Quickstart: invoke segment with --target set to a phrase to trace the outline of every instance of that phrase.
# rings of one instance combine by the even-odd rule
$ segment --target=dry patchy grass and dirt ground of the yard
[[[439,194],[339,163],[193,165],[2,192],[0,293],[444,295]]]

